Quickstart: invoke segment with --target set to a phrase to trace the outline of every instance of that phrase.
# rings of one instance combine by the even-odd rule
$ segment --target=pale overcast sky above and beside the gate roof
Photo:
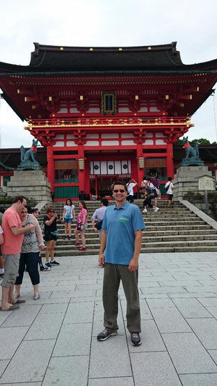
[[[124,47],[177,41],[184,64],[217,58],[216,0],[0,0],[0,6],[1,62],[29,65],[33,42]],[[191,118],[191,140],[217,141],[216,98]],[[1,147],[30,147],[25,122],[0,104]]]

